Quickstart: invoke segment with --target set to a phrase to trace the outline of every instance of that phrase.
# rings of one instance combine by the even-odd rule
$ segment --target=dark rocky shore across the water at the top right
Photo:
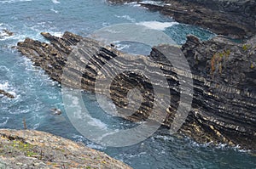
[[[113,3],[124,1],[111,0]],[[137,1],[134,1],[137,2]],[[256,2],[254,0],[162,0],[141,2],[143,7],[171,16],[178,22],[200,25],[216,34],[245,38],[256,34]]]

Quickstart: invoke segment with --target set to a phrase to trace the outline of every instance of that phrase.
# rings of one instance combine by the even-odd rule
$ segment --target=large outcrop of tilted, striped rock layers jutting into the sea
[[[143,69],[142,63],[145,62],[143,57],[137,56],[137,59],[132,61],[126,60],[123,57],[124,54],[115,48],[102,46],[95,40],[79,37],[70,32],[65,32],[63,37],[54,37],[49,33],[42,33],[42,35],[49,40],[50,44],[26,38],[24,42],[18,43],[18,49],[21,54],[32,59],[35,65],[42,67],[53,80],[64,82],[65,84],[62,83],[62,85],[68,87],[81,87],[87,91],[106,95],[110,93],[113,103],[120,108],[125,108],[128,104],[129,90],[138,87],[143,95],[143,103],[133,115],[125,118],[131,121],[142,121],[150,115],[150,118],[160,121],[167,127],[172,125],[181,91],[177,75],[183,76],[184,79],[189,76],[186,70],[173,69],[163,53],[175,54],[175,51],[180,51],[179,48],[160,45],[152,48],[148,56],[154,60],[154,63],[150,63],[150,69],[145,71],[150,74],[154,68],[162,70],[169,83],[167,88],[172,94],[171,104],[165,112],[166,118],[158,119],[163,112],[153,111],[155,98],[152,85],[165,88],[163,82],[152,84],[147,76],[127,72],[114,78],[110,91],[103,87],[104,78],[100,83],[102,87],[97,87],[95,90],[96,76],[108,77],[113,72],[113,67],[106,64],[110,59],[117,59],[112,64],[124,70],[134,67]],[[68,54],[71,54],[73,46],[81,41],[83,41],[83,54],[75,54],[75,57],[79,57],[66,65]],[[239,44],[230,42],[224,37],[200,42],[198,38],[189,36],[181,49],[189,60],[193,73],[194,97],[192,109],[178,132],[200,143],[224,143],[256,149],[253,144],[256,141],[255,37],[245,44]],[[90,61],[90,64],[85,66],[86,60]],[[103,65],[104,69],[101,69]],[[62,77],[64,66],[67,68],[68,76]],[[77,79],[81,76],[80,84]],[[166,94],[160,93],[162,96]],[[161,104],[166,104],[168,101],[170,100],[164,99]],[[130,108],[127,109],[129,111]],[[122,114],[122,112],[119,113]]]

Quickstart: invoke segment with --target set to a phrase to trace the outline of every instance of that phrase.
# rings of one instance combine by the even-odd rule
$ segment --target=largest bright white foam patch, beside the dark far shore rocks
[[[177,22],[159,22],[159,21],[145,21],[139,22],[137,25],[144,25],[149,29],[165,31],[167,27],[172,27],[172,25],[177,25]]]

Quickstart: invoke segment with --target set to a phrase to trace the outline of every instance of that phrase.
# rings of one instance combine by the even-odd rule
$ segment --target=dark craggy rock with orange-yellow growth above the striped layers
[[[220,85],[247,88],[248,93],[256,93],[256,36],[240,44],[224,37],[207,42],[195,39],[189,36],[182,48],[195,74],[205,74]]]

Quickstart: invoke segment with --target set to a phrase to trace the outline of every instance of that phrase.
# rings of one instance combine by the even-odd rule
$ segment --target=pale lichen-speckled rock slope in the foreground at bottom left
[[[131,168],[47,132],[1,129],[0,136],[1,168]]]

